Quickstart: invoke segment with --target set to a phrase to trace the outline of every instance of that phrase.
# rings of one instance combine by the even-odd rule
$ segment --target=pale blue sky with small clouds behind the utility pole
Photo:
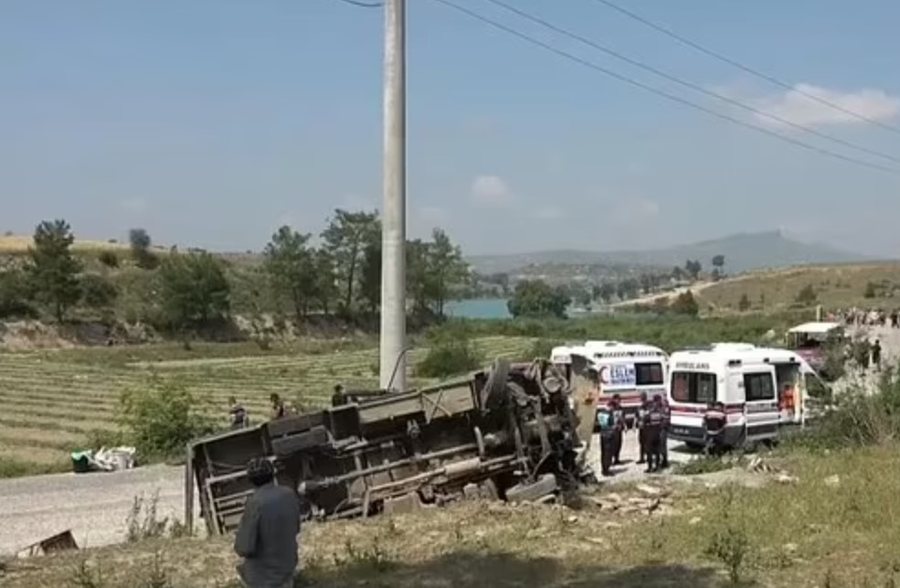
[[[900,169],[895,0],[506,0],[731,100],[487,0],[453,0],[791,141]],[[381,202],[383,12],[340,0],[3,0],[0,231],[261,249]],[[408,231],[470,254],[665,247],[780,229],[900,254],[900,172],[798,147],[634,88],[434,0],[408,0]],[[820,96],[891,126],[810,100]],[[886,157],[885,157],[886,156]],[[891,157],[895,159],[890,159]]]

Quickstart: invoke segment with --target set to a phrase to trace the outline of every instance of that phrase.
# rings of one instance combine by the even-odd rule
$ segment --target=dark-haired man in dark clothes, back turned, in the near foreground
[[[247,464],[255,487],[244,505],[234,538],[243,558],[238,574],[247,588],[291,588],[297,573],[300,498],[287,486],[275,485],[275,466],[256,458]]]

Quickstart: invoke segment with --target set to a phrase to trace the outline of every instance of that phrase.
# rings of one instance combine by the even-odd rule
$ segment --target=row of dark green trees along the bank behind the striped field
[[[407,243],[410,309],[426,321],[444,316],[447,300],[469,276],[462,252],[449,236],[435,229],[431,237]],[[120,266],[119,254],[114,249],[100,252],[97,259],[107,269],[92,272],[84,258],[72,251],[74,241],[64,220],[38,225],[25,263],[0,271],[0,318],[33,316],[40,308],[62,322],[76,306],[108,309],[113,305],[119,294],[114,271]],[[145,276],[140,283],[145,288],[152,284],[155,322],[185,330],[229,316],[232,284],[229,268],[219,256],[200,250],[154,250],[143,229],[132,229],[129,241],[133,265]],[[261,268],[248,270],[253,272],[254,291],[265,290],[265,298],[275,301],[276,310],[286,308],[297,321],[312,314],[354,319],[378,313],[381,222],[377,213],[338,209],[318,239],[283,226],[272,235],[262,259]]]

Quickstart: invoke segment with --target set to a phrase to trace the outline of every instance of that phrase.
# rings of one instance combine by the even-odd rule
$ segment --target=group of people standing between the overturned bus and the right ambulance
[[[613,394],[597,411],[600,429],[600,467],[604,476],[612,475],[612,466],[622,465],[622,442],[626,430],[637,429],[640,444],[639,464],[647,464],[647,473],[669,467],[669,406],[659,394],[651,400],[641,394],[637,415],[629,420],[622,408],[622,398]]]

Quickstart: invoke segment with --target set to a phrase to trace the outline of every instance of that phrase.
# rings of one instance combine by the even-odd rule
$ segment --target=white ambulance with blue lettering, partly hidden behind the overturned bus
[[[579,361],[595,374],[599,403],[605,404],[613,394],[618,394],[629,420],[637,415],[641,393],[646,393],[650,399],[657,394],[666,395],[668,357],[658,347],[619,341],[586,341],[553,349],[552,362],[565,370],[571,370],[573,362]]]

